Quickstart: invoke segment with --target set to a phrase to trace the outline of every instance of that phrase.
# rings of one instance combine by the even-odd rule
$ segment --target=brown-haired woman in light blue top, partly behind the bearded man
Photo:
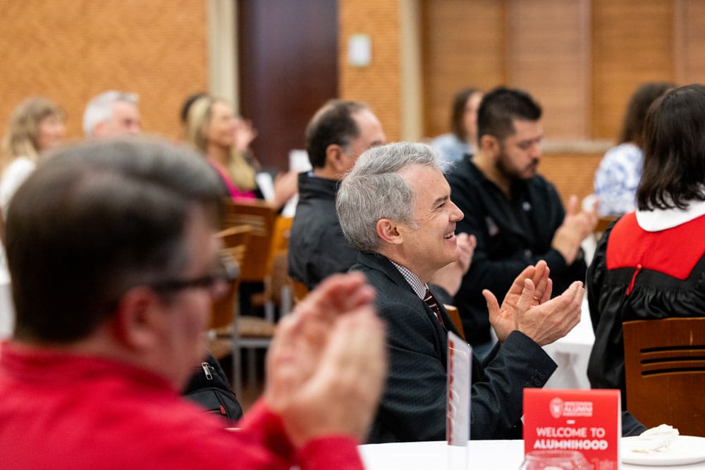
[[[460,161],[466,154],[474,154],[477,148],[477,109],[483,95],[477,88],[462,89],[455,95],[450,113],[452,132],[431,141],[431,146],[441,152],[446,163]]]

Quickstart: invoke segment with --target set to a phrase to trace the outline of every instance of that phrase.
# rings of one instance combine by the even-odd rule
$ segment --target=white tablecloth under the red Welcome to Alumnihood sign
[[[445,441],[432,443],[368,444],[359,447],[362,461],[368,470],[459,470],[448,466],[448,460],[458,462],[457,456],[449,457]],[[453,450],[461,450],[462,447]],[[467,454],[467,466],[472,470],[517,470],[524,459],[523,440],[472,440]],[[462,468],[462,467],[460,467]],[[640,466],[623,464],[623,470],[673,468],[678,470],[705,470],[705,462],[678,466]]]

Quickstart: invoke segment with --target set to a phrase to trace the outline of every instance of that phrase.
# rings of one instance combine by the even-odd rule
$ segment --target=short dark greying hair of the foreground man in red
[[[7,214],[16,338],[87,338],[130,287],[183,276],[193,210],[215,231],[222,199],[218,173],[183,145],[106,138],[54,151]]]

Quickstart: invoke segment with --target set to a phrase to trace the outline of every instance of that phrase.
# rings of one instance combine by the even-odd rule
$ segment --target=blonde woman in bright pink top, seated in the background
[[[233,105],[224,99],[205,95],[188,108],[184,138],[206,156],[233,199],[257,197],[259,165],[248,150],[256,136],[252,126],[236,116]],[[271,204],[280,209],[295,192],[295,173],[284,173],[274,181]]]

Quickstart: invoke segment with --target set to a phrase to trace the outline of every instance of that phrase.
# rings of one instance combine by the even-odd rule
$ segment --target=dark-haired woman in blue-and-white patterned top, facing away
[[[642,131],[651,103],[668,89],[668,82],[648,82],[640,86],[627,105],[619,135],[619,145],[607,151],[595,173],[595,195],[601,216],[622,215],[636,209],[636,193],[642,177]]]

